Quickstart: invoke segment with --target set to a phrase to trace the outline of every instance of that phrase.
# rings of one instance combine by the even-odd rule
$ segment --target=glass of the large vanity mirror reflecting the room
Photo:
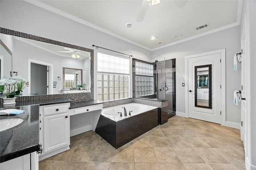
[[[91,55],[93,55],[93,50],[84,47],[79,47],[75,45],[70,45],[66,43],[57,42],[59,45],[40,42],[40,40],[16,37],[12,35],[0,34],[1,39],[8,38],[12,39],[15,51],[13,53],[13,68],[15,72],[18,72],[18,76],[28,78],[30,86],[24,89],[23,94],[62,94],[65,82],[65,72],[63,68],[74,68],[74,70],[80,70],[79,74],[76,74],[76,83],[72,86],[78,89],[77,85],[83,85],[84,87],[80,92],[91,92]],[[18,36],[18,35],[17,35]],[[35,36],[36,37],[36,36]],[[42,38],[42,37],[39,37]],[[42,41],[44,38],[42,38]],[[46,39],[49,40],[49,39]],[[2,47],[1,47],[2,48]],[[73,56],[76,56],[74,58]],[[77,57],[79,56],[79,58]],[[38,65],[32,66],[33,64],[39,64],[46,66],[45,71],[34,70],[38,68]],[[10,64],[12,66],[12,64]],[[10,77],[10,71],[6,77]],[[32,73],[35,75],[32,76]],[[47,80],[42,80],[42,77],[46,75]],[[15,75],[14,75],[15,76]],[[38,80],[36,80],[38,78]],[[35,79],[35,80],[34,80]],[[40,82],[38,85],[32,82]],[[32,91],[33,85],[35,86],[35,91]],[[47,88],[47,92],[38,93],[41,88]],[[31,92],[30,92],[31,90]],[[74,93],[80,93],[74,92]],[[71,91],[69,92],[71,93]]]

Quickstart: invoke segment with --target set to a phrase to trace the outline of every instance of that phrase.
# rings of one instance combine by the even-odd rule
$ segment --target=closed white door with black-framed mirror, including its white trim
[[[225,49],[185,57],[186,117],[224,124]]]

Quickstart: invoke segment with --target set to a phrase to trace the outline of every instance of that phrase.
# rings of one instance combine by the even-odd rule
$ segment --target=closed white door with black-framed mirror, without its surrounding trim
[[[188,58],[188,117],[221,124],[220,58],[220,53]],[[208,76],[206,76],[207,73],[204,73],[207,71],[204,68],[209,69]],[[207,94],[209,100],[205,100],[205,94],[204,100],[200,100],[202,99],[200,96],[198,99],[198,89],[200,89],[198,94],[200,95],[207,92],[207,88],[209,89]]]

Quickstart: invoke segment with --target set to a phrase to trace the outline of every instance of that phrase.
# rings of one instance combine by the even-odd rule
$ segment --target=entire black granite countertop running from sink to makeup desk
[[[71,99],[49,99],[16,103],[15,106],[11,107],[24,110],[24,113],[0,116],[0,119],[23,119],[23,122],[19,125],[0,132],[0,162],[39,151],[39,106],[68,102],[70,102],[70,109],[104,103],[97,102],[97,100],[73,102]],[[0,110],[10,109],[8,107],[10,106],[0,104]]]

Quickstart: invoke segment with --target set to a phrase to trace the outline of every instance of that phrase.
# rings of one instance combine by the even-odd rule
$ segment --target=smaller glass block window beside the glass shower
[[[153,95],[153,77],[135,76],[135,96]]]

